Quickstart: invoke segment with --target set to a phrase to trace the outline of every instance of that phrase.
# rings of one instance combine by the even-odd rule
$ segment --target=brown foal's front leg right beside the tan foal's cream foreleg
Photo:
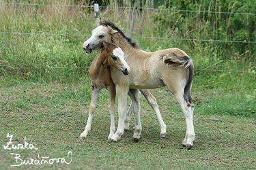
[[[109,86],[108,88],[109,90],[109,113],[110,113],[110,117],[111,117],[111,125],[110,125],[110,133],[109,133],[109,137],[108,140],[111,140],[110,138],[114,135],[115,133],[115,96],[116,96],[116,92],[115,92],[115,84],[113,84],[113,86]]]

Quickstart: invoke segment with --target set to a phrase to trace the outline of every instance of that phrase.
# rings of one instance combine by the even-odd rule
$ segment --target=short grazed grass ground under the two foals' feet
[[[195,79],[197,76],[195,77]],[[199,84],[194,84],[197,86]],[[197,88],[195,88],[197,89]],[[151,90],[167,137],[160,139],[160,127],[147,101],[141,97],[143,131],[139,143],[132,141],[130,130],[117,143],[108,143],[110,116],[108,94],[100,93],[92,130],[87,139],[79,139],[87,122],[89,80],[78,84],[42,84],[20,82],[0,88],[1,146],[14,135],[14,143],[33,143],[38,150],[3,150],[2,167],[16,165],[14,156],[37,159],[40,156],[66,158],[70,165],[40,165],[43,169],[253,169],[255,168],[256,107],[255,93],[232,95],[221,90],[193,90],[195,133],[193,150],[182,148],[186,122],[180,106],[167,88]],[[240,91],[242,92],[242,91]],[[130,103],[130,100],[128,100]],[[244,114],[242,114],[244,113]],[[117,126],[117,116],[115,116]],[[41,158],[41,157],[40,157]],[[39,165],[22,165],[36,168]]]

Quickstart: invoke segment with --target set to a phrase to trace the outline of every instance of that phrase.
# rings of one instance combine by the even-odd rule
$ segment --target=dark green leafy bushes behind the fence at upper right
[[[169,7],[161,5],[152,15],[154,31],[161,37],[184,39],[215,39],[220,41],[256,41],[256,1],[173,1]],[[190,12],[176,11],[189,10]],[[195,12],[197,11],[197,12]],[[205,12],[200,12],[205,11]],[[225,14],[221,12],[248,13]],[[171,33],[171,34],[170,34]],[[193,44],[188,44],[193,46]],[[205,43],[201,43],[205,46]],[[255,44],[214,43],[222,58],[233,57],[234,52],[242,58],[255,62]]]

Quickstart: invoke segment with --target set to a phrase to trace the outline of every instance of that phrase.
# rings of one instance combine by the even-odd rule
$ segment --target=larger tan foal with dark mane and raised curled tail
[[[118,97],[118,126],[115,134],[110,138],[112,141],[120,139],[124,133],[127,95],[132,89],[135,100],[139,103],[139,89],[159,88],[167,86],[175,99],[182,107],[186,118],[186,135],[182,142],[183,146],[190,149],[195,139],[193,125],[194,104],[191,99],[191,86],[193,82],[194,66],[191,58],[182,50],[169,48],[156,52],[145,52],[131,39],[113,24],[113,22],[102,21],[92,31],[92,35],[83,48],[87,53],[102,48],[102,42],[111,42],[115,39],[117,45],[124,51],[124,58],[130,66],[129,75],[124,75],[111,67],[111,78],[115,84]],[[133,138],[139,140],[141,135],[141,122],[139,119],[139,105],[134,108],[135,131]]]

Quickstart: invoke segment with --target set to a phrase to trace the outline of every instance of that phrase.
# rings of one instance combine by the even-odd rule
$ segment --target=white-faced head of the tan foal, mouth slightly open
[[[111,39],[111,35],[115,33],[118,32],[109,27],[100,25],[91,31],[91,37],[84,42],[83,49],[87,54],[91,54],[94,50],[102,48],[103,41],[109,41]]]

